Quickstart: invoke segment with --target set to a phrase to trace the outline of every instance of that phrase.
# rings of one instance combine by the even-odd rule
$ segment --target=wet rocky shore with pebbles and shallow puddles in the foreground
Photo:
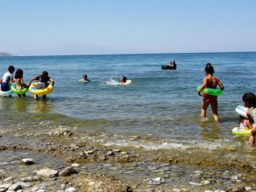
[[[236,148],[213,155],[106,146],[96,132],[65,128],[0,134],[0,192],[256,191],[255,167]]]

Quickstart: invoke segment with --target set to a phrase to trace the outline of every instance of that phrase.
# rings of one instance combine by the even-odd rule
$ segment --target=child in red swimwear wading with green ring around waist
[[[201,90],[212,88],[216,89],[217,85],[220,87],[220,90],[224,90],[224,85],[218,80],[216,77],[213,76],[214,69],[212,67],[211,63],[207,63],[207,66],[205,68],[205,73],[207,77],[203,79],[203,84],[201,84],[201,87],[199,90],[197,90],[197,93],[199,96],[201,96]],[[209,104],[211,104],[212,107],[212,113],[213,118],[216,122],[218,122],[218,96],[210,96],[207,94],[203,94],[203,102],[201,106],[201,117],[206,118],[207,108]]]

